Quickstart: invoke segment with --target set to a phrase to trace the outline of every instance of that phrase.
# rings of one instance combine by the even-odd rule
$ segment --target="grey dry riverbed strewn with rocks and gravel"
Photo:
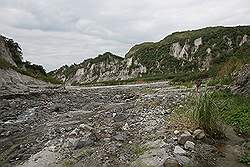
[[[0,166],[216,166],[210,141],[168,126],[191,91],[160,82],[2,97]],[[183,134],[188,146],[177,139]]]

